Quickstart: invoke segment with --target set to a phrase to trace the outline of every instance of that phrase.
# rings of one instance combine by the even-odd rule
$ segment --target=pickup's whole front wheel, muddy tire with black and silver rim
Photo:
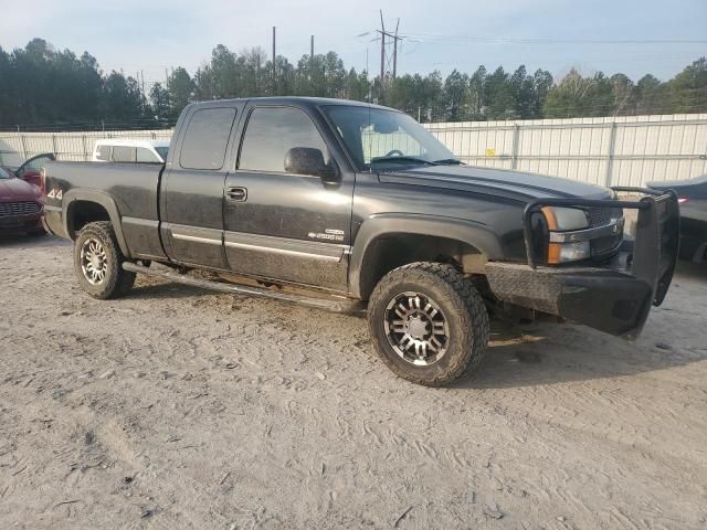
[[[488,343],[488,314],[461,273],[441,263],[391,271],[369,300],[373,347],[398,375],[443,386],[473,371]]]

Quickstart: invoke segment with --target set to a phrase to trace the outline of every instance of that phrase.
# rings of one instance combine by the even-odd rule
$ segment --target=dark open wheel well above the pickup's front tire
[[[413,262],[449,263],[457,271],[482,273],[486,261],[475,246],[463,241],[421,234],[387,234],[373,240],[361,264],[360,294],[368,299],[389,272]]]

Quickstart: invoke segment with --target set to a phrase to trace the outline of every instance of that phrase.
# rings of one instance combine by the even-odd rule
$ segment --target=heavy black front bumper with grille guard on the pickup
[[[503,301],[556,315],[606,333],[635,339],[651,306],[659,306],[673,278],[679,246],[677,195],[669,191],[616,189],[646,193],[640,201],[539,200],[526,209],[526,227],[534,208],[599,205],[639,210],[635,242],[625,240],[619,254],[602,266],[537,266],[489,262],[488,284]],[[600,204],[601,203],[601,204]],[[534,248],[526,230],[526,245]]]

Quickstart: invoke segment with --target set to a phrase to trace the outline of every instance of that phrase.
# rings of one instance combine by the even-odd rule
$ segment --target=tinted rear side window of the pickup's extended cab
[[[179,165],[187,169],[221,169],[234,117],[234,108],[204,108],[192,114]]]

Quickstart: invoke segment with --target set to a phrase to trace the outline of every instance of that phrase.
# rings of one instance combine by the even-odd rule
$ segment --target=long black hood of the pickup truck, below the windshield
[[[379,174],[381,182],[426,186],[527,202],[545,198],[611,199],[608,188],[576,180],[474,166],[422,166]]]

